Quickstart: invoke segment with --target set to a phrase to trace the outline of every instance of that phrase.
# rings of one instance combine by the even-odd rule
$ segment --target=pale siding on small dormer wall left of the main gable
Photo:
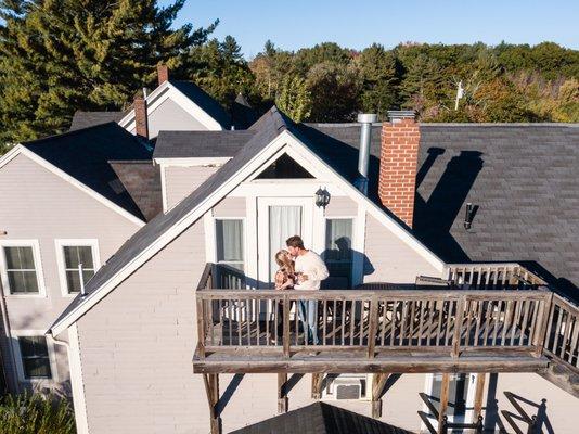
[[[215,174],[219,167],[214,166],[167,166],[165,169],[165,194],[167,209],[172,208],[207,178]]]

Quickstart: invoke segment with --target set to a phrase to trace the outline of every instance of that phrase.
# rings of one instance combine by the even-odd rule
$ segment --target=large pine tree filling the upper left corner
[[[66,130],[76,110],[119,110],[155,65],[194,68],[191,47],[217,22],[172,28],[184,0],[2,0],[0,143]]]

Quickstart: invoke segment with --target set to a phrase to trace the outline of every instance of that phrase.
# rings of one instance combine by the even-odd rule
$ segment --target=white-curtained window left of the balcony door
[[[215,234],[217,261],[243,271],[245,268],[243,220],[216,219]]]

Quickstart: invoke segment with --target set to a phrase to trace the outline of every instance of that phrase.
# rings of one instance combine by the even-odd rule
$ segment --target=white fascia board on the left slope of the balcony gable
[[[125,265],[117,273],[115,273],[107,282],[102,284],[98,290],[89,294],[86,301],[78,305],[74,310],[68,312],[61,321],[53,324],[51,328],[52,335],[57,335],[66,330],[70,324],[77,321],[85,312],[87,312],[92,306],[104,298],[111,291],[113,291],[119,283],[121,283],[127,277],[138,270],[143,264],[151,259],[162,248],[175,240],[180,233],[185,231],[196,220],[202,218],[207,210],[213,208],[219,201],[221,201],[229,192],[231,192],[236,186],[243,182],[249,175],[257,170],[261,165],[267,162],[272,154],[278,152],[290,140],[287,131],[281,132],[275,139],[273,139],[269,145],[265,146],[256,156],[254,156],[244,167],[242,167],[235,175],[233,175],[227,182],[220,188],[216,189],[213,193],[195,208],[191,209],[185,216],[170,227],[165,233],[163,233],[155,242],[150,244],[138,256],[136,256],[129,264]]]

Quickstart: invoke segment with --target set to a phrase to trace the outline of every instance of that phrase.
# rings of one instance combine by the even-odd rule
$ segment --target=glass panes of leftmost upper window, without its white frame
[[[38,294],[38,276],[31,246],[4,246],[11,294]]]

